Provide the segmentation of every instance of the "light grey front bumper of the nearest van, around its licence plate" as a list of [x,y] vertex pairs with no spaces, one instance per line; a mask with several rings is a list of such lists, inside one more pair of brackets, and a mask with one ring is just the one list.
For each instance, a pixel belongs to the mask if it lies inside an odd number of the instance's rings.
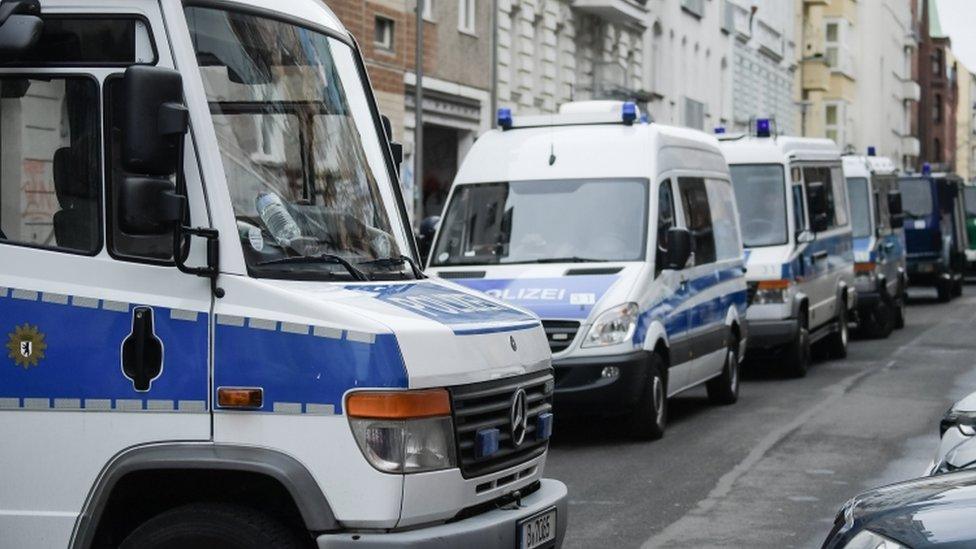
[[323,534],[316,539],[316,543],[319,549],[518,547],[519,521],[555,508],[556,540],[551,547],[561,547],[569,518],[566,494],[566,485],[562,482],[542,479],[539,489],[522,498],[519,506],[513,504],[457,522],[404,532]]

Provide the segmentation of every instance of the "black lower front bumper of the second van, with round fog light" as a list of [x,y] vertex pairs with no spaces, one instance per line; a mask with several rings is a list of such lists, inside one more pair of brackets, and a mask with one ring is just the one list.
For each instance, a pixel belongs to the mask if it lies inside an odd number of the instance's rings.
[[[559,417],[617,415],[629,412],[647,386],[650,353],[564,358],[553,361],[556,390],[553,407]],[[614,367],[617,375],[603,377]]]

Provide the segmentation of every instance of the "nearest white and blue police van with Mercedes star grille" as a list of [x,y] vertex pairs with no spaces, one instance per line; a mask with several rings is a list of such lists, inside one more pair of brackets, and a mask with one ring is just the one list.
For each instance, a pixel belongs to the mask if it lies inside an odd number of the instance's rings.
[[415,265],[323,3],[0,18],[0,547],[561,543],[545,332]]

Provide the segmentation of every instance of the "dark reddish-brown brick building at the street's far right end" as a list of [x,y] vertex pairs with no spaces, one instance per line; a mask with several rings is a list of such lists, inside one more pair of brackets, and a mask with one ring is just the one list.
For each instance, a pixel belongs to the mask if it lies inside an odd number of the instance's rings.
[[942,32],[935,0],[923,0],[919,28],[918,78],[922,88],[918,109],[919,163],[952,171],[956,157],[958,82],[955,67],[949,60],[951,41]]

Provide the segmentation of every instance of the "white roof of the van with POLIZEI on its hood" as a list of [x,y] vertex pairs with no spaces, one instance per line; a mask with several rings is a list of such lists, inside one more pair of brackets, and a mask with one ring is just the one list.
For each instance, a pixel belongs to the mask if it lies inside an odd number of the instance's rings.
[[675,169],[728,173],[718,141],[697,130],[656,123],[556,124],[485,133],[455,183],[654,179]]

